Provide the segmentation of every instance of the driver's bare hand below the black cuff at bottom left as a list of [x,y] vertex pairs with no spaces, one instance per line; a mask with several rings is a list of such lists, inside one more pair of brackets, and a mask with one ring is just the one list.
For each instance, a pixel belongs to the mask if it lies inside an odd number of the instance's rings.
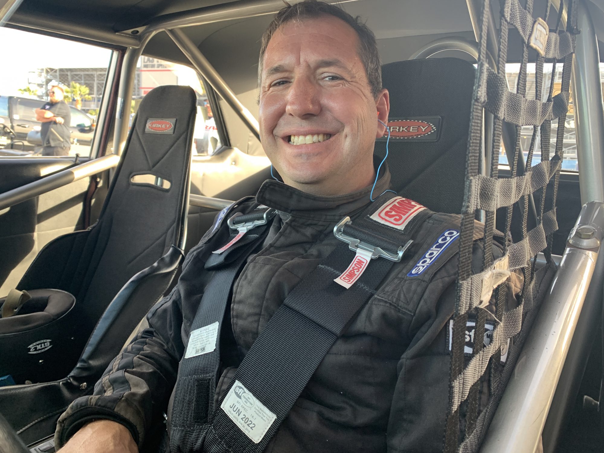
[[60,453],[138,453],[126,426],[111,420],[96,420],[84,425],[59,450]]

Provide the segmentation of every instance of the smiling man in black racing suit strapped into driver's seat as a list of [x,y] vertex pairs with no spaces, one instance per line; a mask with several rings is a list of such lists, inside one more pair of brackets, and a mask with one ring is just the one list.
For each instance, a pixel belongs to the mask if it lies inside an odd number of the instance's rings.
[[[387,132],[390,107],[374,34],[341,8],[306,0],[277,14],[263,36],[259,61],[260,137],[282,182],[266,181],[255,198],[220,213],[189,252],[174,291],[150,310],[94,394],[77,399],[60,417],[55,439],[62,453],[146,451],[154,443],[157,448],[164,413],[162,451],[442,451],[459,217],[387,193],[387,165],[378,170],[373,156],[374,141]],[[372,205],[381,194],[381,205]],[[371,212],[365,213],[367,208]],[[276,214],[267,217],[272,210]],[[257,212],[265,213],[268,225],[262,242],[245,256],[230,294],[226,290],[228,305],[219,313],[224,319],[198,321],[204,304],[214,303],[207,294],[222,291],[219,271],[208,270],[208,263],[245,240],[231,234],[226,220],[233,225],[237,215]],[[374,236],[388,231],[395,239],[413,240],[373,289],[365,283],[373,281],[372,269],[385,263],[383,258],[350,252],[354,260],[344,264],[344,269],[350,264],[344,272],[326,264],[342,244],[334,226],[346,216],[353,225],[374,225]],[[475,252],[482,254],[480,242]],[[500,253],[498,245],[493,253]],[[257,338],[274,323],[283,301],[294,289],[303,293],[300,288],[316,271],[328,275],[329,294],[352,299],[366,289],[367,302],[350,313],[301,393],[280,415],[258,390],[250,390],[253,382],[239,377],[254,372],[242,370],[242,363],[252,352],[263,353],[266,345]],[[509,304],[515,304],[517,292],[508,291]],[[329,294],[313,300],[312,309],[327,306]],[[326,318],[340,314],[324,310]],[[280,335],[297,338],[297,331],[290,324]],[[296,342],[272,344],[268,365],[255,371],[269,377],[288,373],[281,368],[291,359],[289,347],[309,355],[317,347],[306,338]],[[195,364],[216,353],[217,344],[217,374],[204,380]],[[294,364],[291,373],[301,373],[305,360],[295,356],[288,362]],[[281,382],[254,385],[268,393],[288,392]],[[252,406],[257,411],[246,412]],[[225,417],[232,423],[226,431],[216,425]],[[243,448],[241,442],[249,445]]]

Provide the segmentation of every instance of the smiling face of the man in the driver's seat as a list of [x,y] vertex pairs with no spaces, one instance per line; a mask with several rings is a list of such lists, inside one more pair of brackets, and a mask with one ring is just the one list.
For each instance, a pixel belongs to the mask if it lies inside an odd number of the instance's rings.
[[263,59],[260,139],[283,182],[336,195],[371,184],[373,146],[384,133],[388,92],[373,97],[358,36],[333,16],[291,21]]

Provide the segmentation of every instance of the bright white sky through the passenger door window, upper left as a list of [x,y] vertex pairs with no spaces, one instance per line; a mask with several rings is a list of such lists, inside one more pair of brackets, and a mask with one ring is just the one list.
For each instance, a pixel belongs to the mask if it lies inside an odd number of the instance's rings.
[[27,31],[0,28],[2,69],[0,95],[21,95],[28,85],[29,71],[38,68],[103,68],[109,66],[111,51]]

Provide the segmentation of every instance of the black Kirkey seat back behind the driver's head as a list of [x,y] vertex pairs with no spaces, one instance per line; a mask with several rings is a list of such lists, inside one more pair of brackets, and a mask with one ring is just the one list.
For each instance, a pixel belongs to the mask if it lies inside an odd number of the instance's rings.
[[[382,66],[390,92],[392,185],[432,211],[461,213],[475,72],[472,63],[457,58]],[[385,137],[377,139],[375,153],[384,157]]]

